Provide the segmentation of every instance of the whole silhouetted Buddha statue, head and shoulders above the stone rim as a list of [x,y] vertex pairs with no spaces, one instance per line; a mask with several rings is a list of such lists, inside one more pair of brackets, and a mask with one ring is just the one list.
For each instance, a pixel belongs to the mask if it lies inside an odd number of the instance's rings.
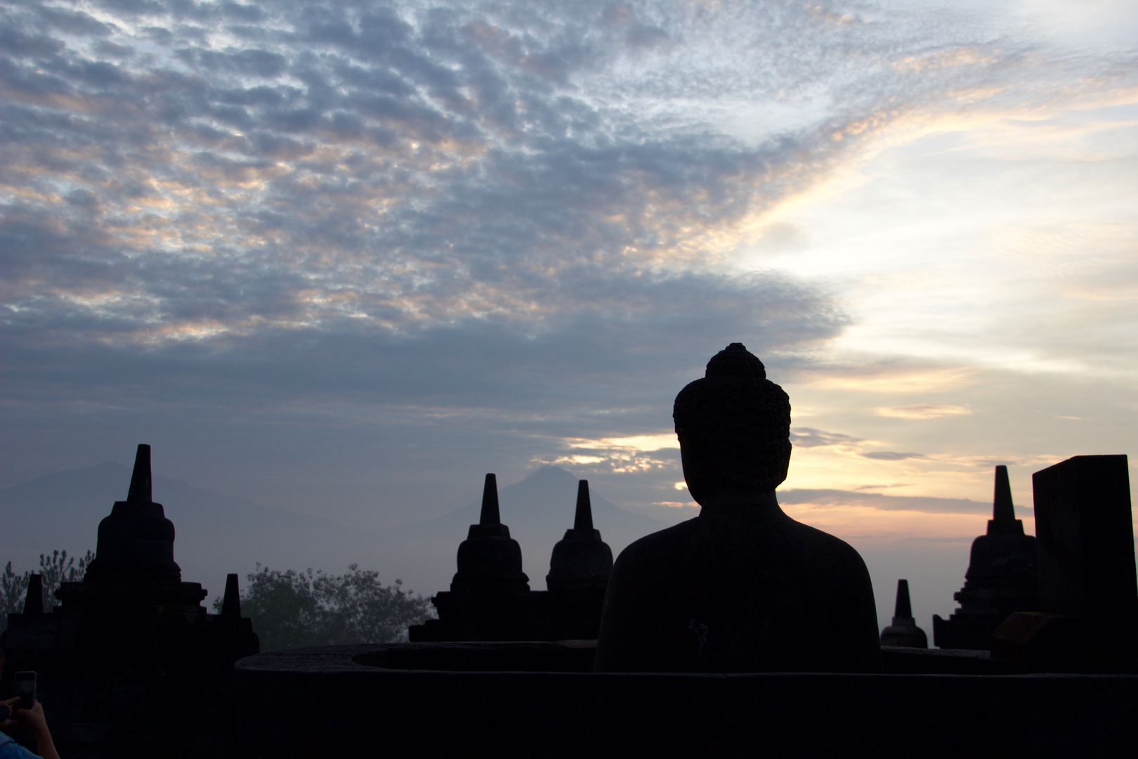
[[597,671],[873,673],[881,646],[865,562],[783,513],[790,398],[740,343],[673,411],[700,515],[617,559]]

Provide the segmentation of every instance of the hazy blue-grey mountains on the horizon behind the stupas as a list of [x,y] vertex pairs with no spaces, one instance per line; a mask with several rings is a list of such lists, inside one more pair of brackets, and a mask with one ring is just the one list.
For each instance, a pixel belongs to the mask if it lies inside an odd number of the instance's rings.
[[[39,554],[66,548],[82,554],[96,547],[99,521],[115,501],[126,497],[131,472],[106,462],[55,472],[0,490],[0,566],[23,571],[39,566]],[[481,482],[471,484],[472,493]],[[500,490],[502,520],[521,544],[530,587],[543,589],[553,544],[572,526],[577,479],[558,467],[542,467]],[[467,528],[478,521],[479,502],[423,522],[373,531],[355,530],[330,519],[257,505],[245,498],[195,488],[156,476],[154,498],[174,522],[174,560],[185,580],[201,583],[211,599],[226,572],[244,576],[256,562],[274,569],[343,572],[356,562],[390,583],[423,594],[447,589]],[[593,521],[613,554],[666,522],[622,511],[592,494]]]

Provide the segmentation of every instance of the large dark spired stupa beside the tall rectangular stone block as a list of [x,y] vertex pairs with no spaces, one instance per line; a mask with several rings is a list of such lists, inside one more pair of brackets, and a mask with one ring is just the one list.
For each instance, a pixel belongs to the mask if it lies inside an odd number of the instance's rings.
[[941,649],[988,650],[991,634],[1016,611],[1039,610],[1036,538],[1015,518],[1007,467],[996,467],[988,533],[972,542],[964,587],[953,594],[960,608],[948,619],[933,614],[933,641]]

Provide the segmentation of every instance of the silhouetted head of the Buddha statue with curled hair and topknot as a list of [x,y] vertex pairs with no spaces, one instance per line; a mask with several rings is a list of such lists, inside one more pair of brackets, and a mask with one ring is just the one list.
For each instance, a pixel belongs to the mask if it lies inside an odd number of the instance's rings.
[[676,396],[671,418],[688,487],[698,478],[703,492],[773,490],[786,479],[790,397],[742,343],[712,356],[703,379]]

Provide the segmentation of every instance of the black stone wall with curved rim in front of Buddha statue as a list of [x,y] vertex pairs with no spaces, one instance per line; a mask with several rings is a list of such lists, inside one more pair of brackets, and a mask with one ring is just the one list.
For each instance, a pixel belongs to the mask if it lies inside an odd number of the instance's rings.
[[[1135,676],[594,675],[580,671],[592,655],[584,646],[415,645],[240,660],[239,756],[1106,757],[1138,749]],[[468,671],[407,669],[432,663]],[[475,671],[519,666],[562,671]]]

